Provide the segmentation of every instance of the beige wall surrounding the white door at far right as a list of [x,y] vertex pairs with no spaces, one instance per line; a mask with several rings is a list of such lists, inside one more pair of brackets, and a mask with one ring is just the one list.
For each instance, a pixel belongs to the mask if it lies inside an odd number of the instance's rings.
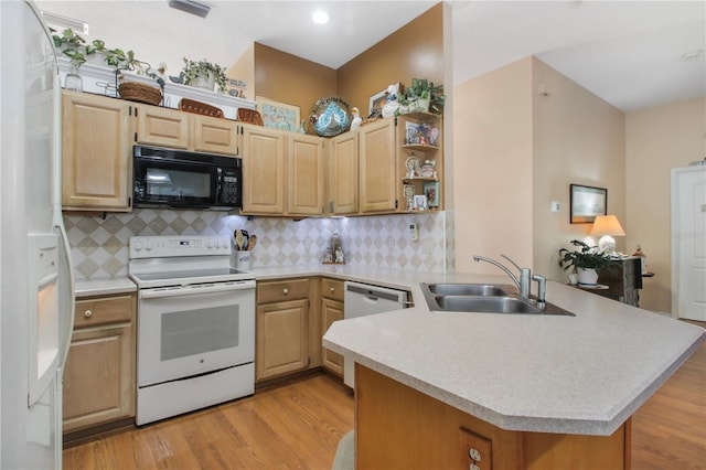
[[627,115],[628,250],[640,244],[653,278],[644,279],[640,307],[670,312],[671,174],[706,157],[704,98],[656,106]]

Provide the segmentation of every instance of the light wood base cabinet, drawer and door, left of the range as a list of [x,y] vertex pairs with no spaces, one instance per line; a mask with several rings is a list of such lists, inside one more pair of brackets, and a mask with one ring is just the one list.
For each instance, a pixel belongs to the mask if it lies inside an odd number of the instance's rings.
[[76,300],[64,368],[64,434],[135,416],[136,296]]

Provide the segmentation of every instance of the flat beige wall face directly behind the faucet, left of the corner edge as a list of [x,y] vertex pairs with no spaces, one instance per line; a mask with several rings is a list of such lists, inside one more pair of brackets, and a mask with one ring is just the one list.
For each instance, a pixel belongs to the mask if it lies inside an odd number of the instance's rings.
[[532,265],[531,82],[525,58],[453,87],[458,271],[500,273],[475,254]]

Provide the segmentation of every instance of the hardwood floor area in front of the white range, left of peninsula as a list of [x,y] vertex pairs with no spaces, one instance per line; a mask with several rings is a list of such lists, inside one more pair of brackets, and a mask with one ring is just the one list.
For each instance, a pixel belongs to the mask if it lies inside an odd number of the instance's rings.
[[327,374],[64,449],[64,469],[330,469],[353,397]]

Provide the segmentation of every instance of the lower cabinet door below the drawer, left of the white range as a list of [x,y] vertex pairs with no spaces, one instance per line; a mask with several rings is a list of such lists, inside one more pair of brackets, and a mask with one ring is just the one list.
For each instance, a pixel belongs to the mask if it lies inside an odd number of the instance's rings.
[[64,367],[64,432],[135,416],[132,323],[76,330]]

